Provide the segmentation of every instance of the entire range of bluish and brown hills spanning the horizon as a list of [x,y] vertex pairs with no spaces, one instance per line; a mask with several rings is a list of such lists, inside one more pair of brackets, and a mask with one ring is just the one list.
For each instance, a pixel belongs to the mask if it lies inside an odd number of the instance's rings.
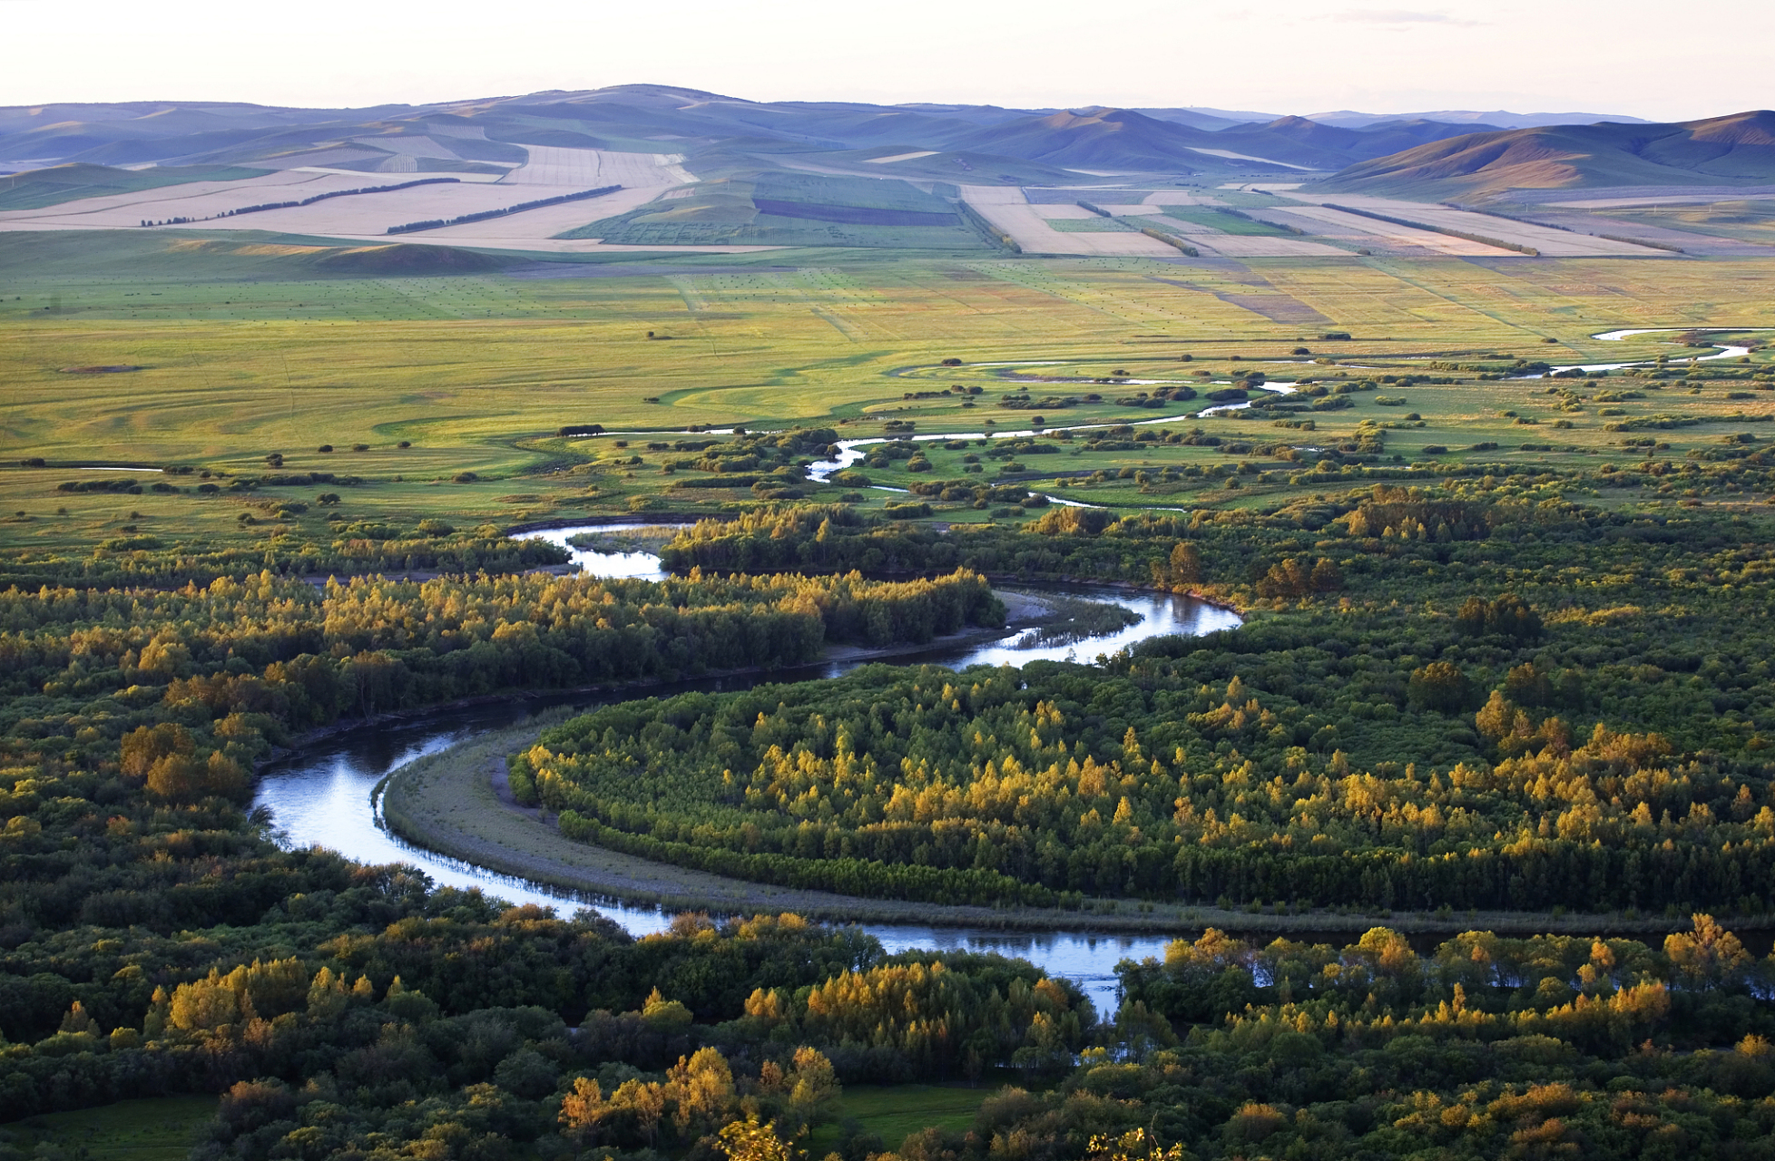
[[678,153],[699,178],[760,169],[1077,185],[1321,179],[1408,195],[1511,186],[1693,185],[1775,178],[1768,119],[1651,124],[1598,114],[1331,112],[747,101],[669,85],[383,105],[204,101],[0,108],[0,172],[87,163],[493,174],[520,146]]

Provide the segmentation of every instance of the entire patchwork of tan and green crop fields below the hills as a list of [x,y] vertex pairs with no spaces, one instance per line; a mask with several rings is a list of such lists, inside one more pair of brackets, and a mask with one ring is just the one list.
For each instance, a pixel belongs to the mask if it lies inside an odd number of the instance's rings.
[[[540,254],[621,252],[635,247],[682,252],[746,252],[735,247],[767,245],[912,250],[990,247],[987,238],[978,236],[976,229],[958,218],[939,222],[951,218],[957,194],[1026,254],[1079,257],[1175,259],[1173,247],[1141,233],[1154,227],[1195,238],[1193,245],[1203,254],[1234,259],[1337,259],[1353,250],[1393,257],[1500,257],[1519,254],[1523,249],[1546,257],[1663,257],[1672,250],[1697,256],[1747,256],[1757,254],[1759,247],[1775,240],[1775,231],[1768,225],[1771,218],[1761,211],[1763,202],[1748,197],[1715,206],[1692,201],[1642,204],[1654,201],[1649,197],[1590,199],[1557,208],[1537,206],[1523,215],[1539,215],[1546,220],[1539,224],[1443,204],[1317,194],[1312,185],[1303,183],[1232,183],[1211,194],[1154,190],[1150,185],[1143,188],[1140,179],[1102,185],[1051,183],[1030,188],[919,181],[916,197],[923,202],[902,206],[900,202],[914,190],[903,181],[891,179],[884,167],[921,165],[930,158],[941,162],[948,156],[934,151],[856,156],[850,169],[781,160],[788,169],[761,174],[747,167],[724,169],[712,174],[710,181],[698,183],[698,178],[683,167],[682,154],[499,146],[509,154],[522,153],[525,160],[518,165],[501,162],[509,167],[504,170],[481,165],[490,172],[421,172],[428,158],[438,158],[438,165],[462,169],[469,154],[476,153],[476,149],[469,153],[453,149],[449,140],[463,144],[472,138],[438,140],[428,135],[360,138],[353,146],[383,151],[376,154],[385,158],[378,172],[327,165],[351,163],[357,154],[346,156],[350,149],[335,149],[334,153],[341,154],[337,158],[321,156],[327,151],[293,154],[282,163],[309,163],[241,181],[201,181],[108,194],[39,209],[0,211],[0,231],[114,229],[138,225],[144,218],[154,222],[190,218],[211,229],[369,241],[383,238],[394,225],[449,220],[619,185],[621,190],[600,199],[430,229],[412,240]],[[479,153],[485,154],[486,149],[490,146],[479,146]],[[955,154],[950,160],[964,158]],[[825,174],[829,188],[799,190],[797,181],[806,183],[806,174],[813,172]],[[330,197],[311,206],[266,209],[238,218],[217,217],[250,204],[394,185],[401,178],[408,181],[451,178],[451,181]],[[1001,174],[999,179],[1014,178]],[[753,204],[754,194],[765,202]],[[772,204],[785,199],[799,208],[783,209]],[[1081,201],[1106,209],[1109,217],[1083,208]],[[660,206],[648,209],[653,202]],[[804,204],[809,202],[820,208],[806,209]],[[1596,202],[1590,209],[1576,208],[1590,202]],[[1605,208],[1603,202],[1613,208]],[[889,206],[937,217],[930,222],[877,220],[880,215],[873,211]],[[1202,215],[1172,217],[1166,208],[1200,209]],[[1223,208],[1237,208],[1248,215],[1244,225],[1239,225],[1237,218],[1214,213]],[[1393,222],[1365,217],[1367,213]],[[1624,236],[1645,236],[1653,245],[1638,245]]]

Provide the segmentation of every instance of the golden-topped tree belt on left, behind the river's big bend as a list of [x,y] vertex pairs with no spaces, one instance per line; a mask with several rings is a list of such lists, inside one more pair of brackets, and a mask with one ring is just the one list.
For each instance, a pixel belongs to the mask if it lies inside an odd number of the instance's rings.
[[7,589],[0,618],[14,731],[101,756],[144,721],[160,738],[140,742],[153,756],[133,756],[126,744],[124,762],[156,765],[190,758],[190,731],[206,735],[213,723],[229,723],[217,746],[227,738],[234,763],[257,756],[264,733],[344,714],[806,664],[827,641],[925,643],[966,625],[1003,625],[1005,611],[966,572],[912,582],[483,573],[325,588],[264,572],[176,591]]

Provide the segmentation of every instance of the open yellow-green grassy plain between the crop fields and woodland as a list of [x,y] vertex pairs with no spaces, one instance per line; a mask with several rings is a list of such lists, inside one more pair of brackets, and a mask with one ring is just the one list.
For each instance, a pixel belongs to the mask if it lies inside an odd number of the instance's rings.
[[[832,426],[845,438],[868,438],[886,435],[889,423],[911,423],[918,435],[983,435],[1164,421],[1161,431],[1203,428],[1221,444],[1086,449],[1090,437],[1079,433],[1060,454],[1005,474],[1069,476],[1065,486],[1079,499],[1113,506],[1242,506],[1298,490],[1289,476],[1301,456],[1290,463],[1253,451],[1278,442],[1335,446],[1379,430],[1383,463],[1596,467],[1644,454],[1612,430],[1624,421],[1674,417],[1654,431],[1654,451],[1681,458],[1738,433],[1768,438],[1770,428],[1755,424],[1775,412],[1775,394],[1755,391],[1766,378],[1750,382],[1768,366],[1763,350],[1745,355],[1748,364],[1699,364],[1709,376],[1743,382],[1479,378],[1519,362],[1651,360],[1660,351],[1681,366],[1715,348],[1670,346],[1674,334],[1590,336],[1766,327],[1775,321],[1766,307],[1775,261],[1234,263],[779,250],[350,277],[327,266],[343,252],[335,247],[199,234],[131,234],[99,247],[96,238],[0,241],[18,272],[0,302],[0,456],[9,462],[0,470],[0,543],[71,549],[174,531],[250,543],[296,531],[291,522],[318,525],[321,492],[343,495],[328,518],[399,524],[428,515],[509,524],[632,508],[714,511],[749,497],[671,490],[682,476],[664,467],[676,456],[648,449],[657,440],[646,433],[735,423]],[[1329,332],[1351,337],[1321,337]],[[1754,346],[1757,337],[1747,332],[1741,341]],[[944,366],[950,359],[960,366]],[[78,371],[119,366],[138,369]],[[1379,385],[1344,396],[1342,410],[1195,419],[1211,407],[1207,391],[1253,369],[1278,382]],[[1452,382],[1384,382],[1400,375]],[[1141,398],[1180,385],[1193,385],[1196,398],[1163,407]],[[1631,398],[1598,398],[1610,389]],[[1303,417],[1312,428],[1299,426]],[[557,428],[584,423],[637,435],[554,438]],[[323,444],[332,451],[320,451]],[[1191,472],[1228,463],[1228,447],[1242,449],[1235,460],[1255,462],[1248,486],[1228,490]],[[980,451],[928,444],[932,474],[923,478],[962,478]],[[288,490],[309,511],[280,520],[259,520],[263,495],[195,492],[204,470],[218,479],[263,472],[272,454],[282,456],[286,474],[330,472],[353,483]],[[1310,463],[1312,453],[1305,458]],[[44,463],[25,465],[32,460]],[[195,474],[167,478],[174,492],[153,490],[165,483],[160,476],[142,476],[138,495],[57,490],[105,476],[85,465]],[[996,479],[1001,467],[1006,462],[987,460],[973,476]],[[919,474],[905,469],[900,460],[868,476],[909,486]],[[1177,478],[1141,485],[1122,478],[1124,469],[1172,469]],[[1099,470],[1108,478],[1090,479]],[[861,495],[870,504],[893,499]]]

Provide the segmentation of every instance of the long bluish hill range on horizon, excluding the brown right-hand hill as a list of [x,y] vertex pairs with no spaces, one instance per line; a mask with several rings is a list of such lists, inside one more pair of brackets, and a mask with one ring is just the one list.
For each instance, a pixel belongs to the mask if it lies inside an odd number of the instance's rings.
[[[738,158],[740,165],[765,154],[785,158],[893,147],[900,153],[941,153],[944,160],[925,169],[934,165],[946,176],[960,174],[969,181],[1012,176],[1038,181],[1056,170],[1230,178],[1298,169],[1331,172],[1475,128],[1489,126],[1422,117],[1377,117],[1372,124],[1335,126],[1305,117],[1276,119],[1209,108],[1021,110],[998,105],[747,101],[676,85],[612,85],[360,110],[204,101],[11,107],[0,108],[0,172],[66,163],[376,170],[389,156],[389,138],[431,137],[447,140],[449,149],[422,156],[454,162],[431,169],[517,163],[522,156],[499,147],[522,144],[641,153],[673,149],[690,158]],[[398,147],[394,153],[410,151]],[[721,162],[721,167],[728,163]]]

